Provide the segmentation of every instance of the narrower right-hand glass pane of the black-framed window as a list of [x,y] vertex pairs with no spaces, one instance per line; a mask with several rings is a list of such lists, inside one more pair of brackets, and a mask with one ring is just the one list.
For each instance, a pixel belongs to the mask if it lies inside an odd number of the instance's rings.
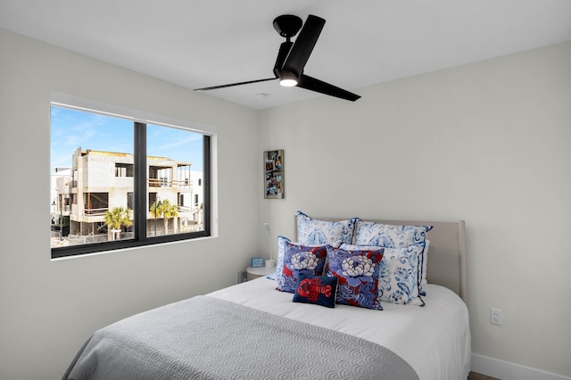
[[148,124],[147,236],[204,231],[203,134]]

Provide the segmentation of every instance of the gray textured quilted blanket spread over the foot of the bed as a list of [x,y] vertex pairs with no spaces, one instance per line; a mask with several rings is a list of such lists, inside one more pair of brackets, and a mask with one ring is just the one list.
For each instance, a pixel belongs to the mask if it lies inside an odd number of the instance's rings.
[[95,332],[63,378],[412,380],[418,376],[393,351],[375,343],[197,296]]

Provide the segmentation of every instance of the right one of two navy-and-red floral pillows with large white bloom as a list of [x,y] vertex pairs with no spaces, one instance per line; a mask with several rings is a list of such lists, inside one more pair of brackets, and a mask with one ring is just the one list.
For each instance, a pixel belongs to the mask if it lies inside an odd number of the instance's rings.
[[378,296],[383,251],[383,248],[351,251],[327,246],[327,275],[339,278],[337,303],[383,310]]

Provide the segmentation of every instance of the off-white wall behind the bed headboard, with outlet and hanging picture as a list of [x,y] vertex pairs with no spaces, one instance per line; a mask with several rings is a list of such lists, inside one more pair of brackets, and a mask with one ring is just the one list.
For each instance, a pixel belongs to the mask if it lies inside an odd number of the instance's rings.
[[570,68],[566,43],[261,112],[285,149],[261,219],[465,219],[473,351],[571,376]]

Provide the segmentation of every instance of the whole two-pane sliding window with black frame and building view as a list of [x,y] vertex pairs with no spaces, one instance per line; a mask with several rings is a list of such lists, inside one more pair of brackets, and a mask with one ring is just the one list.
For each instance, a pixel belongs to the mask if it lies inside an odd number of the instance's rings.
[[51,115],[53,258],[210,235],[209,135],[60,103]]

